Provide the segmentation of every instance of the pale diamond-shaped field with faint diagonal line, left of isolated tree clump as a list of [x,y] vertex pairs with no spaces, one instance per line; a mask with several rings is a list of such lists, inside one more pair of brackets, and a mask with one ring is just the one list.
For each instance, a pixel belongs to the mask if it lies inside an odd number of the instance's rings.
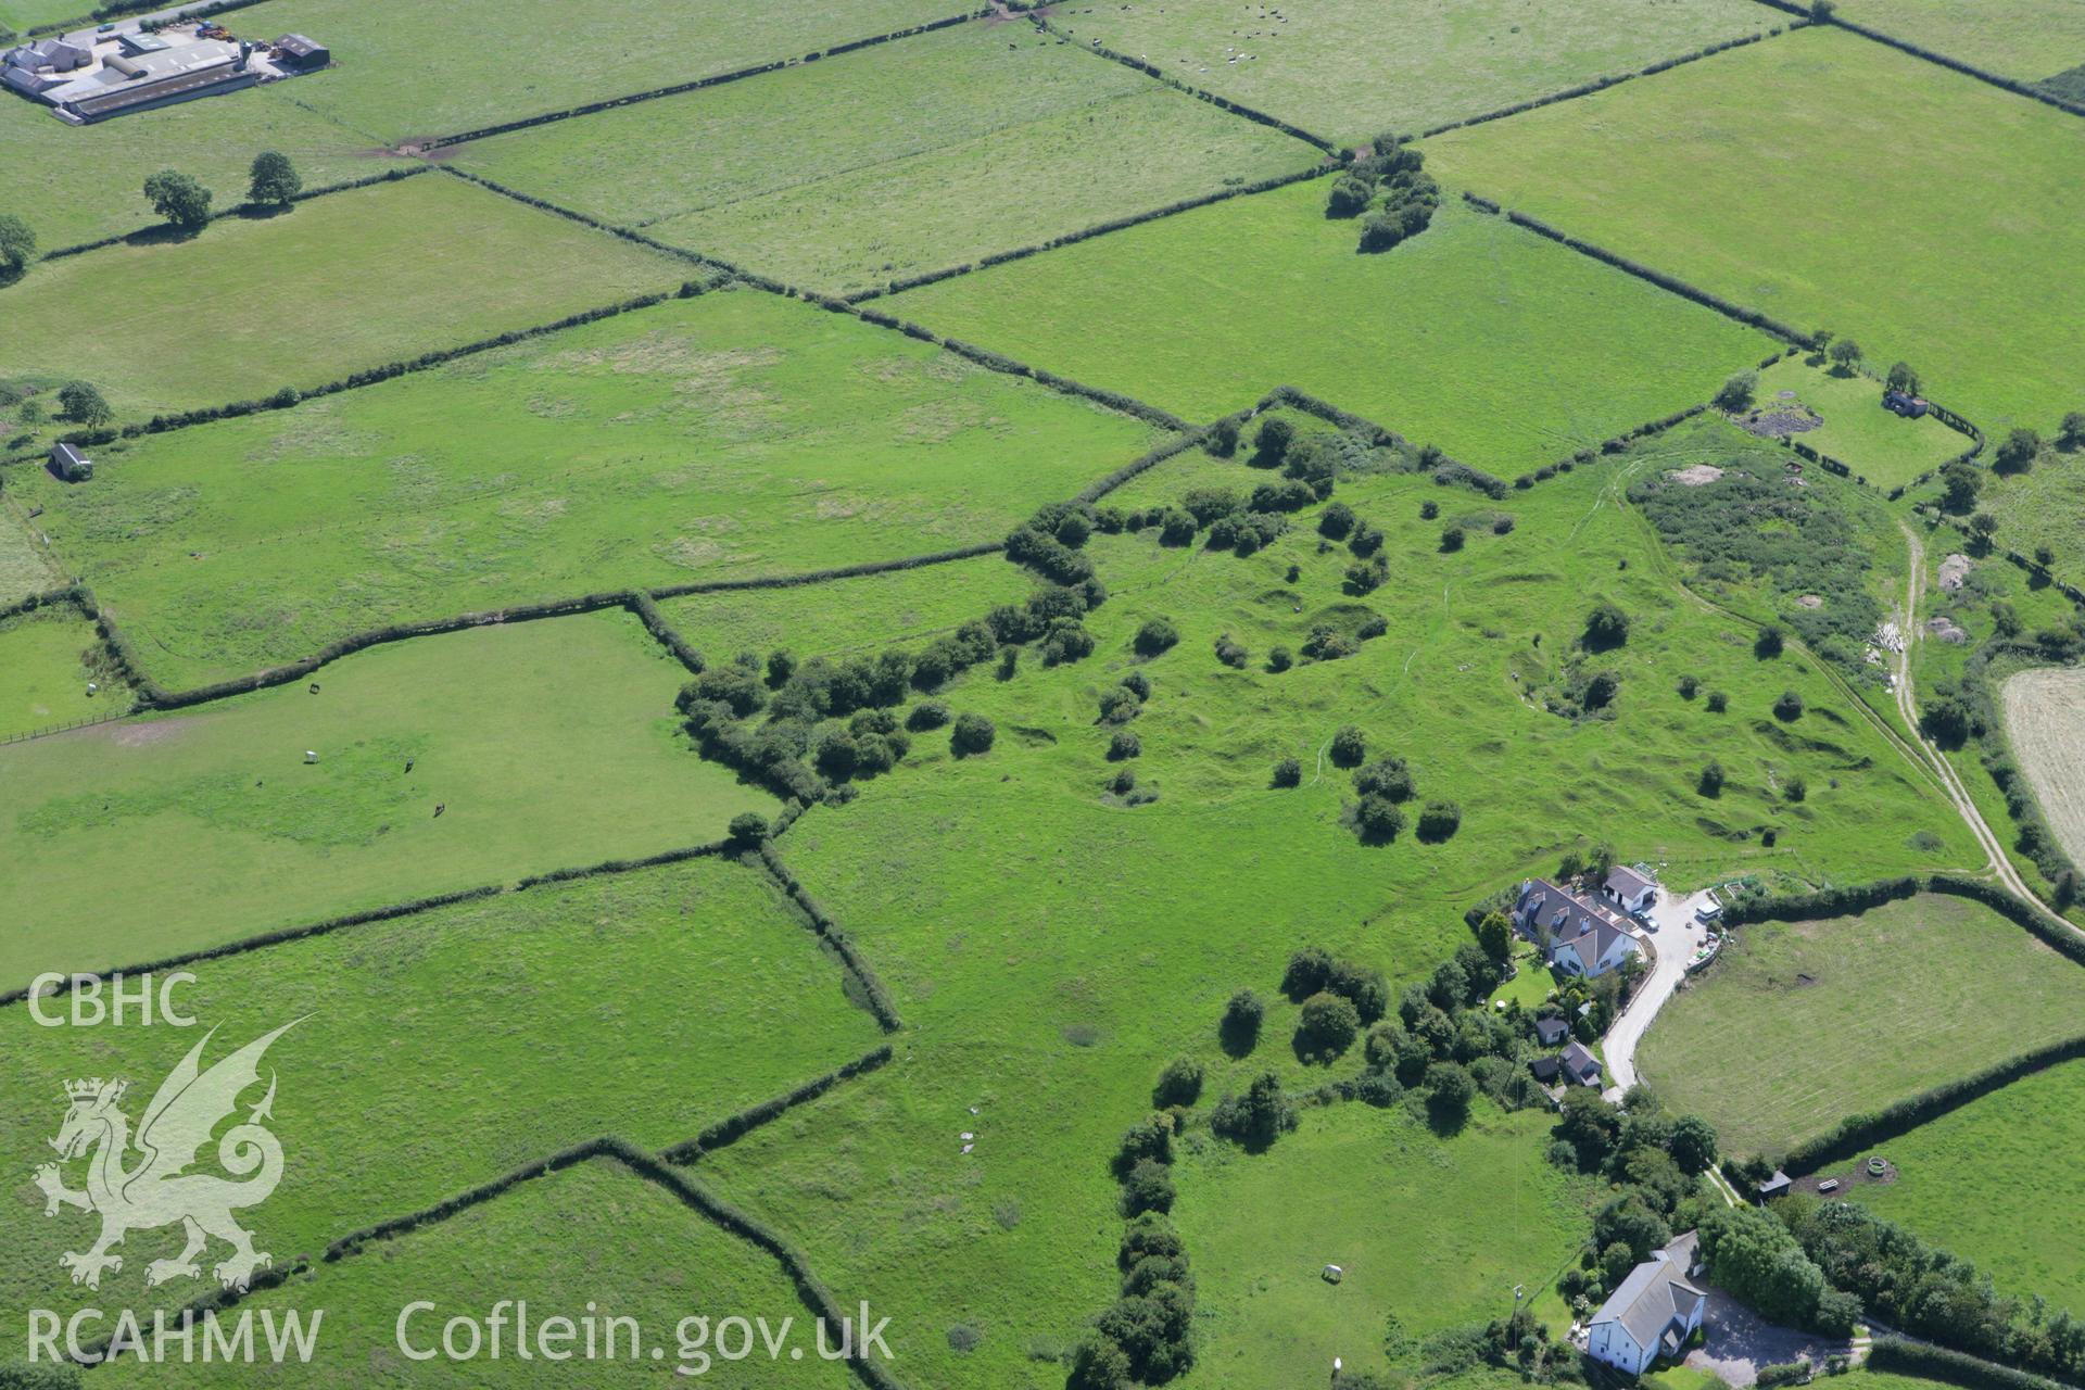
[[[807,150],[817,156],[803,158]],[[661,242],[844,294],[1305,169],[1318,150],[999,23],[498,135],[444,158]]]

